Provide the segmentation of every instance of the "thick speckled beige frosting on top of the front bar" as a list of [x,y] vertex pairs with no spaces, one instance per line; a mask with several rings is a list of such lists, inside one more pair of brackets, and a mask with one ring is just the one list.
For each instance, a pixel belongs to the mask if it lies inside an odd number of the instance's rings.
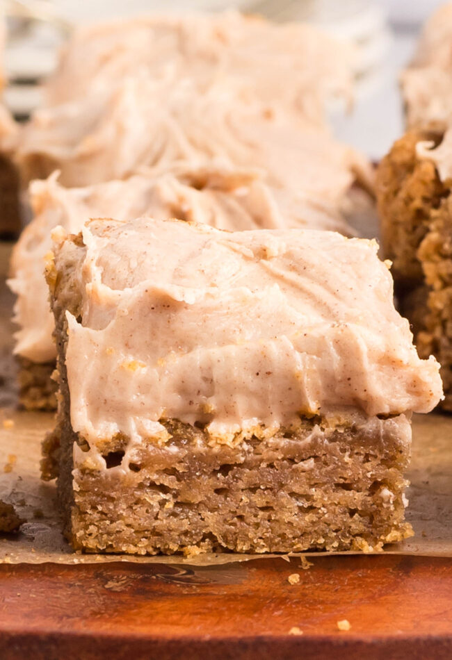
[[92,447],[118,433],[165,441],[162,418],[232,442],[300,413],[426,412],[442,395],[375,241],[145,218],[93,221],[83,240],[66,363],[72,427]]

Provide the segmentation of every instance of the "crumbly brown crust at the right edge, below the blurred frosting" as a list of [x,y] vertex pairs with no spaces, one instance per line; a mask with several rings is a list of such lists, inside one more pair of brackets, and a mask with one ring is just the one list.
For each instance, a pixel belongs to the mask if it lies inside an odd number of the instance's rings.
[[432,162],[417,158],[421,140],[439,144],[442,133],[409,131],[378,166],[378,213],[401,313],[412,323],[421,358],[433,354],[441,364],[439,406],[452,411],[451,188]]

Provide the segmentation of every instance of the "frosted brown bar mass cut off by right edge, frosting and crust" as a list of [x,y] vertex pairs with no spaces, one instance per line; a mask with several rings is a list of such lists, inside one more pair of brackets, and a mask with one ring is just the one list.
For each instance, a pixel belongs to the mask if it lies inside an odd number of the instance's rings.
[[452,3],[423,28],[403,73],[408,131],[376,182],[385,256],[419,354],[441,363],[443,409],[452,411]]

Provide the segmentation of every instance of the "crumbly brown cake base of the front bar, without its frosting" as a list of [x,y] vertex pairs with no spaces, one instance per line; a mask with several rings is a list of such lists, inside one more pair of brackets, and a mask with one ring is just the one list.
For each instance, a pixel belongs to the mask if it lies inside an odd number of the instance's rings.
[[96,467],[88,442],[71,427],[65,370],[65,311],[78,315],[81,304],[73,277],[83,257],[77,241],[64,265],[47,270],[60,394],[58,426],[45,441],[43,461],[47,478],[58,473],[74,548],[133,554],[370,550],[412,534],[404,520],[411,438],[404,415],[369,418],[348,409],[227,445],[212,443],[202,426],[161,420],[171,436],[166,443],[143,442],[129,463],[129,438],[106,438],[97,447],[106,467]]

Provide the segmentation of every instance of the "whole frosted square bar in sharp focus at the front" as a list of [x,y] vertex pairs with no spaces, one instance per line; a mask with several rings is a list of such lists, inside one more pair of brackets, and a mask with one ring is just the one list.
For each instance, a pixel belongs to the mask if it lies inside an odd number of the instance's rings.
[[53,440],[75,548],[369,550],[410,535],[410,413],[442,388],[376,242],[149,218],[54,238]]

